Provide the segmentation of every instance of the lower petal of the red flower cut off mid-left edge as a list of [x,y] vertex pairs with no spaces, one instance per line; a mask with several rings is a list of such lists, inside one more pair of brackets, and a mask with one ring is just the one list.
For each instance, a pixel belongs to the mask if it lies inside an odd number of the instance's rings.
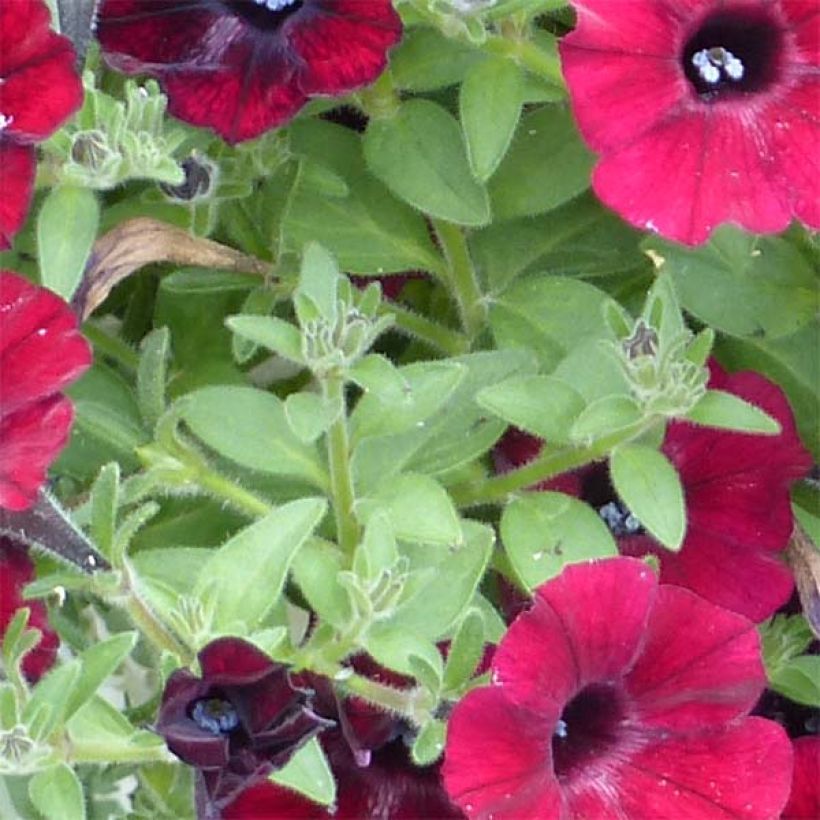
[[34,503],[73,417],[71,402],[55,395],[0,418],[0,507],[25,510]]

